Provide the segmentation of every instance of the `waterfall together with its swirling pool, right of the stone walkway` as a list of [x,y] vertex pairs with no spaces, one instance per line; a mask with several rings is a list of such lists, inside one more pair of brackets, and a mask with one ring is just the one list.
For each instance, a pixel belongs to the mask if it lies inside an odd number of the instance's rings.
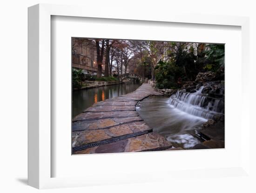
[[221,113],[222,101],[202,94],[179,90],[171,97],[150,96],[136,109],[153,130],[176,146],[192,148],[201,143],[197,130],[214,115]]

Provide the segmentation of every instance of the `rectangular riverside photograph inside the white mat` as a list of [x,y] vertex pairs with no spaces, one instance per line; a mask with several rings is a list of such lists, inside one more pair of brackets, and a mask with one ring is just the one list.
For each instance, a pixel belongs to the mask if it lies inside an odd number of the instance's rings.
[[225,148],[225,44],[71,45],[72,154]]

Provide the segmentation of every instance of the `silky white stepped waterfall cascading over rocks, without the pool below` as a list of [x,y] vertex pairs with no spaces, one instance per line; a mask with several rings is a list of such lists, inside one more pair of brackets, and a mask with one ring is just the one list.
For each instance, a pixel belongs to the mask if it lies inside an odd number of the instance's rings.
[[178,90],[169,98],[169,105],[190,115],[211,119],[219,113],[223,113],[223,102],[220,99],[202,94],[204,86],[194,93]]

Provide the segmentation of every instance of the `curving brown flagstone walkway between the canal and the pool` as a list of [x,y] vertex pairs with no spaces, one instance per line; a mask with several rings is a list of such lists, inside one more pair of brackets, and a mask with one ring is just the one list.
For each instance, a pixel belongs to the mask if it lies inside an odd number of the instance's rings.
[[119,153],[175,149],[139,116],[136,104],[162,95],[149,84],[134,92],[95,103],[73,119],[73,154]]

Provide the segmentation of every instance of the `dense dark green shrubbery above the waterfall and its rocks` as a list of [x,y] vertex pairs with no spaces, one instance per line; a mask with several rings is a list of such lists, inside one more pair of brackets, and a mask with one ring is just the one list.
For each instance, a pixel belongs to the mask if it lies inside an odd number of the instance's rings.
[[[206,47],[205,47],[206,46]],[[194,81],[199,72],[213,71],[219,79],[224,77],[224,45],[171,43],[168,62],[160,61],[155,67],[156,87],[179,88],[183,81]]]

